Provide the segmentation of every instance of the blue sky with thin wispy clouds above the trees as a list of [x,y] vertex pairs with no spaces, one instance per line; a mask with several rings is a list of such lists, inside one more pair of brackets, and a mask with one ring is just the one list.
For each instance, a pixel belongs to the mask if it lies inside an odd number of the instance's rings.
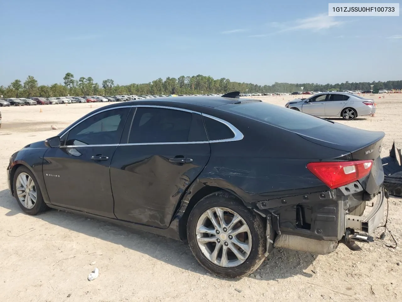
[[62,83],[66,72],[120,85],[402,79],[402,16],[328,17],[322,0],[13,0],[0,12],[4,86]]

